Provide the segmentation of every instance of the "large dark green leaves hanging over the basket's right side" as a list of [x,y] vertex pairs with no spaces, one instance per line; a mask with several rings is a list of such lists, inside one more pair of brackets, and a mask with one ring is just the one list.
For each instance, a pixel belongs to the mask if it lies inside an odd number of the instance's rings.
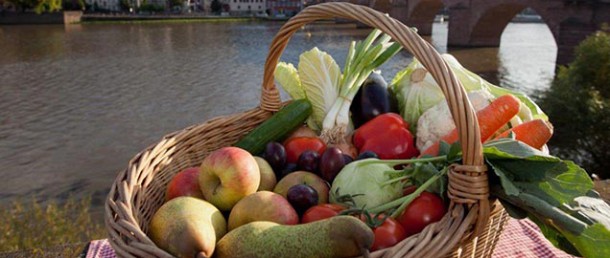
[[490,142],[484,153],[500,180],[491,191],[511,215],[526,213],[566,252],[610,257],[610,206],[582,168],[512,139]]

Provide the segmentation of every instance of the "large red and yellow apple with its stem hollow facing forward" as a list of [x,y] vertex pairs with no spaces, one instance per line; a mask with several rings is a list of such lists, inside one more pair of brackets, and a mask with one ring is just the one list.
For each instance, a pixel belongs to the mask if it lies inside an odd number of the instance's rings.
[[260,181],[256,160],[238,147],[218,149],[205,157],[200,166],[201,192],[222,211],[231,210],[239,200],[255,193]]

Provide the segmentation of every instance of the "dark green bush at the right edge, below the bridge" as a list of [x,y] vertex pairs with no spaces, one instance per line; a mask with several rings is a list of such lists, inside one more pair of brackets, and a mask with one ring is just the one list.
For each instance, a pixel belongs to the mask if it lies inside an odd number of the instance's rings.
[[610,178],[609,53],[610,33],[585,39],[540,103],[555,126],[552,152],[602,178]]

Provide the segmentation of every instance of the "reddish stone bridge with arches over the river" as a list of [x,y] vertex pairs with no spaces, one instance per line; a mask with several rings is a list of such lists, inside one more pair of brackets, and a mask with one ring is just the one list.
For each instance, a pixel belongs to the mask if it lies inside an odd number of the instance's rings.
[[435,16],[449,15],[448,47],[497,47],[508,23],[529,7],[549,27],[557,43],[557,63],[572,60],[573,49],[610,23],[610,0],[349,0],[368,5],[429,35]]

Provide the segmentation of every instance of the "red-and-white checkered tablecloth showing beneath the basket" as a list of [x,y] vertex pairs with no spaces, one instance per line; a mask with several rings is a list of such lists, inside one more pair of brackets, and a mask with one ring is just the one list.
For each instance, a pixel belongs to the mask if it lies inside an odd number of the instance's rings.
[[[107,239],[91,241],[87,258],[116,257]],[[494,258],[567,258],[573,257],[555,248],[530,220],[510,219],[493,253]]]

